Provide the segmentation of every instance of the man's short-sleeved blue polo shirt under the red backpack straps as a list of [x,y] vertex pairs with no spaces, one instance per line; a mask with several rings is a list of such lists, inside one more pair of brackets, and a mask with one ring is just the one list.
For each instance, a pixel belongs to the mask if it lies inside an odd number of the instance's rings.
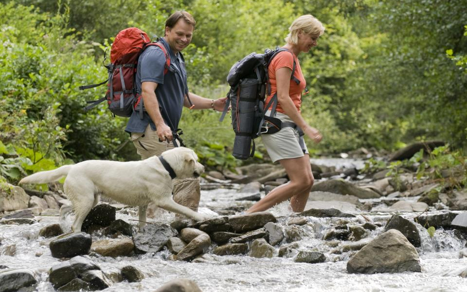
[[[182,115],[184,96],[188,94],[187,72],[183,57],[179,53],[173,54],[164,38],[160,41],[170,55],[170,70],[164,75],[166,65],[164,52],[157,46],[149,46],[139,56],[135,77],[136,92],[141,93],[141,82],[158,83],[156,96],[162,118],[170,129],[176,130]],[[125,131],[143,133],[148,124],[156,130],[154,122],[146,111],[143,112],[143,119],[140,118],[139,111],[133,111]]]

